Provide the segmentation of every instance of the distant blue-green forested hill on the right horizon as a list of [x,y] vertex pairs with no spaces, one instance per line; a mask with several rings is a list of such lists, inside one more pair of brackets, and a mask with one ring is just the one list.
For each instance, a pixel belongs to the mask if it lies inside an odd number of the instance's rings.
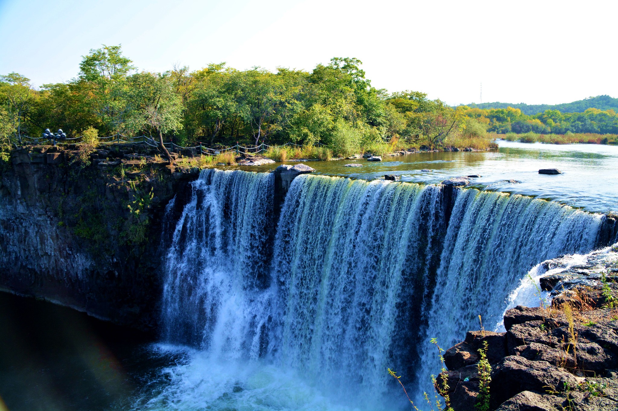
[[483,104],[468,104],[470,108],[519,108],[522,113],[533,115],[543,113],[545,110],[558,110],[561,113],[583,113],[587,108],[598,108],[599,110],[616,110],[618,112],[618,99],[614,99],[607,95],[588,97],[587,99],[577,100],[572,103],[564,104],[511,104],[511,103],[483,103]]

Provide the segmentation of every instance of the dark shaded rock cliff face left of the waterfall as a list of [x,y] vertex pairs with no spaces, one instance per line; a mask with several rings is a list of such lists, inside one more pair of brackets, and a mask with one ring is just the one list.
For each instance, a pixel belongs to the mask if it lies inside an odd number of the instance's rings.
[[0,182],[0,288],[156,325],[164,206],[197,173],[133,145],[12,153]]

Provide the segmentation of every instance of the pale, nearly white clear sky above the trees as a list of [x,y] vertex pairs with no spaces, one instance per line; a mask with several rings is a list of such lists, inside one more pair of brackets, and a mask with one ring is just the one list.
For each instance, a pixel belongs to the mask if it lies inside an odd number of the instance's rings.
[[122,44],[140,70],[311,70],[357,57],[373,86],[449,104],[618,97],[618,1],[0,0],[0,74],[68,81]]

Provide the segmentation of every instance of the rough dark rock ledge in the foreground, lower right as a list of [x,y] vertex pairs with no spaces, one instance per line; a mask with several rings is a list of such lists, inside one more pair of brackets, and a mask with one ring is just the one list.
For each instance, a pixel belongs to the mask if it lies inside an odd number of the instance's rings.
[[489,410],[618,410],[618,245],[572,263],[544,263],[551,305],[510,309],[506,332],[468,332],[444,353],[455,411],[477,410],[485,341]]

